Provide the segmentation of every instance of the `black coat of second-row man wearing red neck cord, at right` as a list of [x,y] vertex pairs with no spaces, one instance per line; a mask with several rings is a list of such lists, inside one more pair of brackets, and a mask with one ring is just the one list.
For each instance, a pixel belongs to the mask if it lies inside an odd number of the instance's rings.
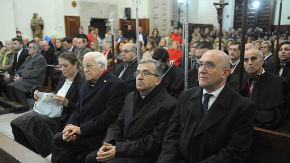
[[[231,87],[238,91],[239,76],[235,76],[230,82]],[[250,82],[251,85],[251,82]],[[288,93],[286,79],[275,74],[265,72],[257,80],[252,90],[251,100],[257,106],[255,114],[255,126],[276,130],[281,124],[286,107],[286,95]],[[248,74],[243,74],[242,95],[249,97]]]

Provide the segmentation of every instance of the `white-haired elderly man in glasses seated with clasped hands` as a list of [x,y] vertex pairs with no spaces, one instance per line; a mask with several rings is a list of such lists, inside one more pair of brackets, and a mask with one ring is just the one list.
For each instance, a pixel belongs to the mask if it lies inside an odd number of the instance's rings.
[[120,114],[126,84],[106,68],[107,60],[102,53],[95,51],[84,56],[81,69],[87,81],[63,132],[52,140],[52,162],[84,161],[88,153],[101,147],[107,128]]

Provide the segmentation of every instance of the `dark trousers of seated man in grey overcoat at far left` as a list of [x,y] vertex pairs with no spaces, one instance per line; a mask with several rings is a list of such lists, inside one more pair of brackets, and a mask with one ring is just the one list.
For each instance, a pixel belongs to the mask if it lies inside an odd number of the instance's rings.
[[12,101],[18,102],[20,104],[23,104],[24,107],[29,107],[29,104],[26,100],[26,94],[25,92],[15,88],[14,86],[11,85],[7,85],[6,86],[7,89],[7,96],[9,99],[11,99]]

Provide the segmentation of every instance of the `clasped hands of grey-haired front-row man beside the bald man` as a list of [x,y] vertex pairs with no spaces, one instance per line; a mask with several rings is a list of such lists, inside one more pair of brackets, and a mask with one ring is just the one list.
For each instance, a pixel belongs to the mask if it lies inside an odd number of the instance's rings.
[[96,160],[105,162],[109,159],[115,158],[116,156],[116,146],[104,142],[104,145],[100,147],[99,151],[97,152]]

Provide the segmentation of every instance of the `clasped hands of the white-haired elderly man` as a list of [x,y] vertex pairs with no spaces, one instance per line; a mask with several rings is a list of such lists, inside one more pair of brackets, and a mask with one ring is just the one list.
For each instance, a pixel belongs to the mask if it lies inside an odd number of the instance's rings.
[[75,141],[78,136],[81,135],[81,128],[78,126],[74,126],[72,124],[68,124],[63,130],[63,140],[66,142]]

